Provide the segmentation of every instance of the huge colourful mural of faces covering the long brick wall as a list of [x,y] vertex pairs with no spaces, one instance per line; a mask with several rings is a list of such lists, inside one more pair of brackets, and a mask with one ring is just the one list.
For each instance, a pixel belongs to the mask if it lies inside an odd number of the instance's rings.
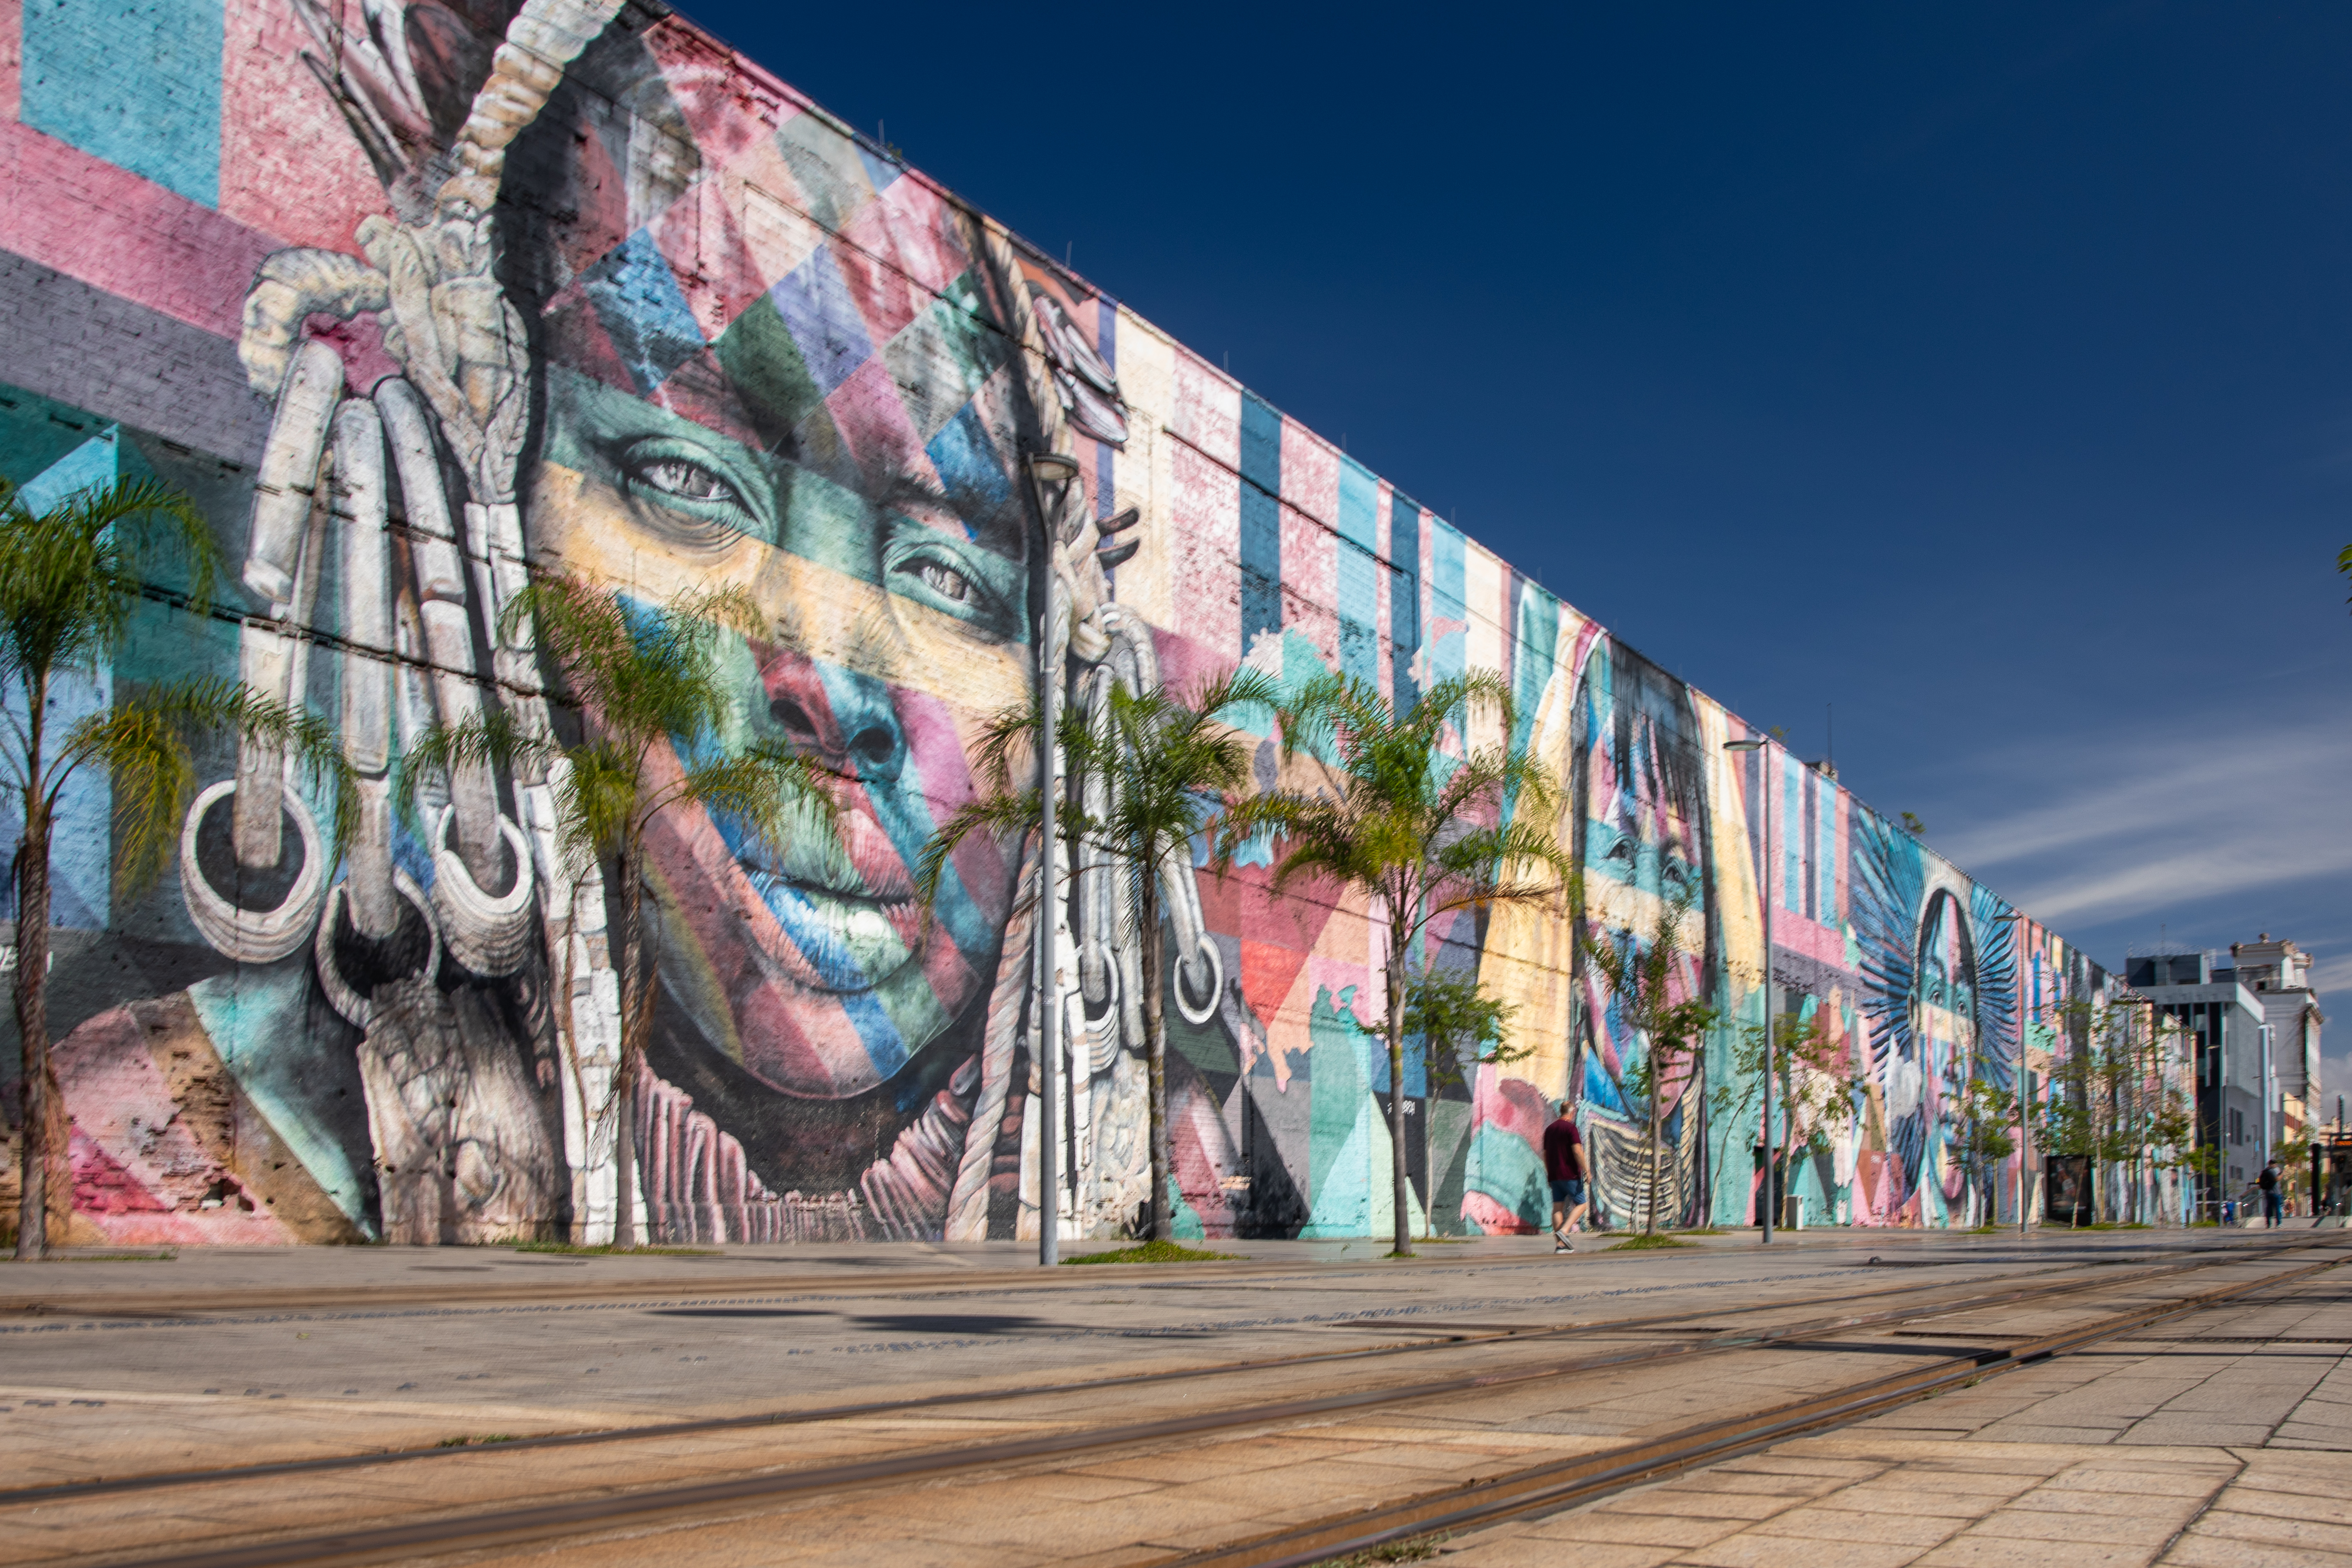
[[[1150,983],[1181,1232],[1388,1234],[1395,1093],[1416,1227],[1538,1227],[1562,1098],[1628,1222],[1649,1041],[1585,954],[1668,907],[1677,992],[1722,1009],[1658,1074],[1672,1220],[1755,1215],[1738,1041],[1766,985],[1837,1041],[1790,1190],[1858,1225],[1983,1215],[1962,1091],[2009,1086],[2096,966],[1825,771],[1724,750],[1750,729],[1705,693],[682,16],[42,0],[0,28],[0,473],[33,505],[162,477],[235,564],[207,616],[160,578],[59,701],[233,675],[329,715],[362,790],[336,842],[285,757],[214,743],[136,896],[103,778],[66,799],[75,1239],[609,1239],[621,1140],[661,1239],[1035,1234],[1047,1006],[1058,1208],[1112,1237],[1148,1192]],[[1077,468],[1051,517],[1037,454]],[[713,743],[837,780],[833,825],[783,844],[659,823],[628,1103],[612,891],[557,851],[560,780],[390,802],[435,719],[595,724],[503,614],[543,571],[748,595],[764,630],[729,632]],[[1397,698],[1508,677],[1512,733],[1465,741],[1557,771],[1588,896],[1463,914],[1425,957],[1517,1004],[1522,1056],[1432,1074],[1416,1046],[1390,1084],[1364,910],[1272,896],[1263,858],[1164,872],[1167,976],[1098,879],[1040,907],[1033,839],[969,842],[924,914],[910,867],[974,797],[983,719],[1030,691],[1049,581],[1082,708],[1240,663]],[[1049,987],[1037,919],[1075,954]]]

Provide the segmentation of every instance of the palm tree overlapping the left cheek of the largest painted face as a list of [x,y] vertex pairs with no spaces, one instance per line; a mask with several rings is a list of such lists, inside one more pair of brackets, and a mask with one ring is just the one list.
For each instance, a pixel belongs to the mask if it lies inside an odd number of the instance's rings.
[[619,590],[550,576],[499,616],[501,639],[522,628],[532,628],[583,710],[583,738],[567,745],[508,712],[435,724],[402,757],[395,795],[414,811],[423,778],[482,766],[536,773],[555,785],[562,851],[583,867],[614,865],[607,886],[621,893],[621,1063],[602,1114],[621,1117],[614,1241],[628,1248],[637,1237],[633,1105],[659,994],[644,952],[644,835],[670,806],[734,816],[776,844],[795,832],[833,832],[833,780],[814,757],[786,745],[760,741],[731,755],[710,745],[734,696],[720,672],[720,635],[769,630],[739,588],[680,592],[649,609]]

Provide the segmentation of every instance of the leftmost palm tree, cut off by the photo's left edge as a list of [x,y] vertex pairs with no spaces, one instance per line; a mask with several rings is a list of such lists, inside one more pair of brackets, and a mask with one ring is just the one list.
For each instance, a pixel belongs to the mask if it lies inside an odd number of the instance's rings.
[[195,785],[191,733],[230,733],[294,755],[336,802],[336,844],[358,818],[358,792],[334,729],[318,715],[254,696],[240,682],[165,684],[113,703],[52,736],[59,684],[96,675],[146,597],[143,567],[181,557],[188,607],[212,604],[221,550],[195,505],[153,480],[94,484],[35,512],[0,480],[0,684],[21,698],[0,736],[0,773],[24,811],[16,853],[16,1032],[24,1041],[16,1255],[45,1258],[49,1227],[71,1213],[66,1100],[49,1060],[49,835],[56,802],[82,769],[113,783],[115,882],[146,889],[169,863]]

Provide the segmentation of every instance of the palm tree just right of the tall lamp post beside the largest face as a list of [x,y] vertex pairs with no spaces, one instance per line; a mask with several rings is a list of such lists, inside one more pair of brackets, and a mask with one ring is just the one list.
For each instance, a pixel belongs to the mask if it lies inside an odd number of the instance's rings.
[[[1150,1081],[1150,1239],[1167,1241],[1171,1206],[1167,1119],[1167,933],[1162,886],[1192,875],[1192,839],[1223,802],[1249,783],[1256,743],[1235,729],[1247,710],[1272,708],[1282,691],[1256,670],[1214,679],[1190,698],[1167,686],[1131,691],[1105,682],[1101,701],[1056,715],[1056,745],[1068,776],[1068,802],[1056,802],[1056,832],[1073,851],[1094,851],[1115,867],[1127,919],[1143,947],[1143,1039]],[[974,750],[988,795],[967,802],[922,851],[920,884],[934,900],[955,846],[974,832],[1016,839],[1037,823],[1035,766],[1037,708],[997,712]],[[1080,858],[1073,853],[1073,858]],[[1178,954],[1190,961],[1192,954]]]

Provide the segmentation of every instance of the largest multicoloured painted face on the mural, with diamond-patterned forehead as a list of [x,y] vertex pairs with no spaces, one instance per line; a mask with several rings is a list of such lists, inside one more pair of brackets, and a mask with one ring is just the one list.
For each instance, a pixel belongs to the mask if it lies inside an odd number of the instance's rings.
[[[647,602],[729,585],[760,607],[767,630],[722,644],[706,745],[816,757],[837,818],[769,844],[666,813],[661,978],[703,1039],[811,1098],[873,1088],[948,1030],[995,978],[1018,872],[974,839],[929,922],[915,900],[922,846],[974,795],[978,722],[1028,684],[1018,367],[953,216],[880,207],[708,343],[644,235],[586,273],[548,313],[529,494],[539,559]],[[915,289],[877,252],[943,277]]]

